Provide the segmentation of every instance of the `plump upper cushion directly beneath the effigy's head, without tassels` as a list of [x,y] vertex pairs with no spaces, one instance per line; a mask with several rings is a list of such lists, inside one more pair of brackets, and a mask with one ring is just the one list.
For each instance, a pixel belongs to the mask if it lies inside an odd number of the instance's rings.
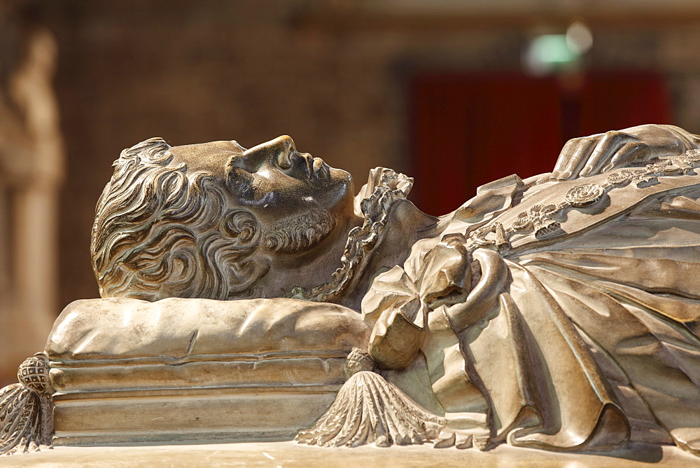
[[330,385],[369,333],[328,303],[92,299],[66,307],[46,353],[59,392]]

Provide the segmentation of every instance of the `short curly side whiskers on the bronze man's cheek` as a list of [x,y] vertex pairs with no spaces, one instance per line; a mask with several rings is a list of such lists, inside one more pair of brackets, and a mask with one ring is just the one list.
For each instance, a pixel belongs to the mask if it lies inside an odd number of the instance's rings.
[[274,252],[303,252],[314,247],[335,228],[335,220],[323,209],[274,223],[265,233],[265,247]]

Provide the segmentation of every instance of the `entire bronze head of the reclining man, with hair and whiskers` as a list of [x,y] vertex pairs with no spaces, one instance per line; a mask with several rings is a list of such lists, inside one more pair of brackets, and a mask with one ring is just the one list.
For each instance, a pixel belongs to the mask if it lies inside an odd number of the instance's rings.
[[122,151],[96,213],[100,294],[149,301],[309,289],[341,266],[363,223],[350,174],[298,153],[289,137],[248,150],[148,139]]

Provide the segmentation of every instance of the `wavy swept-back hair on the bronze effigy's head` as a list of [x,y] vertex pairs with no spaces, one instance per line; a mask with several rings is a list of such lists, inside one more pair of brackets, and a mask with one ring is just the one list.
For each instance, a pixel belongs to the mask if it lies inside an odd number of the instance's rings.
[[225,192],[207,172],[172,167],[170,146],[151,138],[125,149],[95,209],[90,254],[102,297],[254,296],[269,270],[253,261],[260,223],[226,209]]

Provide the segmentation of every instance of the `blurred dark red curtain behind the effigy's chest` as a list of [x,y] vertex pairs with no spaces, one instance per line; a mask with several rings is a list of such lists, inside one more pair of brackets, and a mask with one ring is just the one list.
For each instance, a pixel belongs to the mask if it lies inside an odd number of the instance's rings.
[[412,200],[445,214],[489,181],[549,172],[569,138],[642,123],[671,123],[657,74],[418,75],[409,87]]

